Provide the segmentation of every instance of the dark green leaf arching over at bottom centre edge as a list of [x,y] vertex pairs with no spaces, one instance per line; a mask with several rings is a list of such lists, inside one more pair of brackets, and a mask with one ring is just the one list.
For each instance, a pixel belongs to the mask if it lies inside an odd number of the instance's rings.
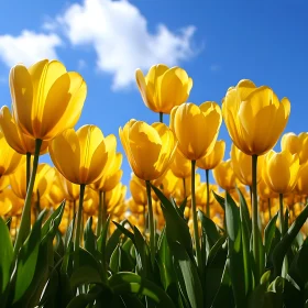
[[133,273],[118,273],[109,278],[109,286],[114,294],[139,294],[147,296],[161,308],[175,307],[169,296],[154,283]]

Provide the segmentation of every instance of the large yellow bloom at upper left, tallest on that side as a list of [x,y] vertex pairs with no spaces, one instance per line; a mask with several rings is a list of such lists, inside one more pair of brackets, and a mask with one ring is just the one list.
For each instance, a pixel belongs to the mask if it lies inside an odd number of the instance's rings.
[[66,72],[58,61],[41,61],[26,68],[15,65],[10,89],[16,124],[33,139],[52,140],[73,128],[87,95],[82,77]]

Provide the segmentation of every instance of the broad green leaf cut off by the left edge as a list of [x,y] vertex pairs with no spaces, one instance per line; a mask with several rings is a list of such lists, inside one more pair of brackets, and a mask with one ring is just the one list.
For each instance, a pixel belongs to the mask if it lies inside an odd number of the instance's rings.
[[13,261],[13,245],[6,222],[0,217],[0,294],[4,293],[10,280],[10,270]]

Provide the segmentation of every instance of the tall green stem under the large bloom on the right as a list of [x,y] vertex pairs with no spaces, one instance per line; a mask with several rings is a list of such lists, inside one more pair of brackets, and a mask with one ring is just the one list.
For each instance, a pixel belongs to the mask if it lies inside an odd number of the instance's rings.
[[253,257],[255,262],[256,268],[256,277],[255,280],[258,284],[258,279],[261,277],[261,260],[260,260],[260,251],[258,251],[258,238],[260,238],[260,229],[258,229],[258,208],[257,208],[257,194],[256,194],[256,166],[257,166],[257,155],[252,155],[252,240],[253,240]]

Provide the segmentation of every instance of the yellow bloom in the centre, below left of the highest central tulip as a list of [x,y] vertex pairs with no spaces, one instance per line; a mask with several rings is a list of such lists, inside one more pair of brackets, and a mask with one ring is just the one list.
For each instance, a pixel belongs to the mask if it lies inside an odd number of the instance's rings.
[[139,178],[157,179],[169,167],[177,142],[168,127],[130,120],[119,133],[131,168]]

